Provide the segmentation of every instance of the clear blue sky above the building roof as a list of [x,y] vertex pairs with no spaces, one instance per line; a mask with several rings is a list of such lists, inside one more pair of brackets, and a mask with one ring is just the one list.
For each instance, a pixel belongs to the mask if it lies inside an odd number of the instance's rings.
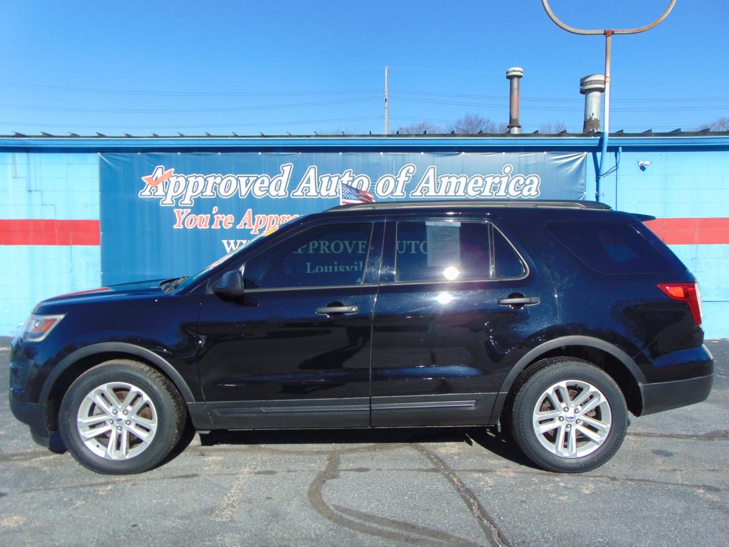
[[[552,0],[582,28],[643,26],[668,0]],[[391,132],[467,112],[507,122],[522,66],[523,131],[581,131],[580,77],[604,38],[556,27],[539,0],[4,2],[0,134]],[[611,129],[729,116],[729,2],[678,0],[615,36]]]

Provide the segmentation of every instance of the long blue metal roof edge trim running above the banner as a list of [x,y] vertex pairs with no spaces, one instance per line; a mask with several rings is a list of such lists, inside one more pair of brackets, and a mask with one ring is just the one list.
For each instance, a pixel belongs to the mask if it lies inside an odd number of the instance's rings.
[[[498,133],[482,135],[308,135],[308,136],[0,136],[0,150],[39,152],[520,152],[588,151],[601,145],[601,133]],[[609,150],[729,150],[729,132],[670,131],[610,133]]]

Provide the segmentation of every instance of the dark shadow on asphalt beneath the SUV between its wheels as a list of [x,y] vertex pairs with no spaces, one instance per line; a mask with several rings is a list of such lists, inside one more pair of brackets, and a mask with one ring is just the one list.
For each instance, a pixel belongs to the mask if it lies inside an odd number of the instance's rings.
[[[192,439],[190,439],[192,441]],[[190,441],[185,443],[186,447]],[[337,445],[391,443],[465,443],[477,444],[498,457],[537,469],[516,446],[507,432],[487,427],[397,427],[382,429],[327,430],[215,430],[200,433],[202,446],[215,445]],[[180,443],[182,445],[182,443]],[[332,445],[335,445],[332,448]],[[179,451],[184,450],[184,447]],[[342,449],[345,449],[342,446]],[[178,452],[179,453],[179,452]]]

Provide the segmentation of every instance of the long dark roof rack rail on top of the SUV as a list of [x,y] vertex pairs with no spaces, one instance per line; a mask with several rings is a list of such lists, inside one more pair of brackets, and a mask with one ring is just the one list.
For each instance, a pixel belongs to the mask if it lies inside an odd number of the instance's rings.
[[362,211],[382,209],[424,209],[443,207],[514,207],[518,209],[544,208],[544,209],[599,209],[612,210],[612,207],[599,201],[577,200],[507,200],[507,199],[472,199],[472,200],[429,200],[429,201],[381,201],[379,203],[348,203],[327,209],[327,211]]

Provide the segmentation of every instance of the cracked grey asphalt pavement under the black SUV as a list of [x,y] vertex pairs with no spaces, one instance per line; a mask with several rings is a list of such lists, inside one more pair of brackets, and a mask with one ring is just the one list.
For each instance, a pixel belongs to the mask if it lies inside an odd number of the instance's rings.
[[191,434],[155,470],[101,476],[33,443],[0,397],[0,545],[725,546],[729,341],[706,345],[709,399],[632,418],[580,475],[448,427]]

